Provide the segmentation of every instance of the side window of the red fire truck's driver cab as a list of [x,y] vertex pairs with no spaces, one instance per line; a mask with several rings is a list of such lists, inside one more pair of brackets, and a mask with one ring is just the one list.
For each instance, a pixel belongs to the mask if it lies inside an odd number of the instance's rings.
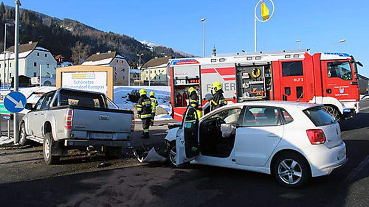
[[341,78],[342,80],[352,80],[351,65],[349,62],[329,62],[327,63],[328,77]]

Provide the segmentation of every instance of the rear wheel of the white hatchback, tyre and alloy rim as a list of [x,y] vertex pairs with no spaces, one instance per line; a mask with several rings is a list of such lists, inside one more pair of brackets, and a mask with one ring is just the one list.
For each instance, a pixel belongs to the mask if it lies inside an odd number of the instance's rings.
[[280,185],[300,187],[311,178],[310,167],[300,154],[285,152],[273,163],[273,175]]

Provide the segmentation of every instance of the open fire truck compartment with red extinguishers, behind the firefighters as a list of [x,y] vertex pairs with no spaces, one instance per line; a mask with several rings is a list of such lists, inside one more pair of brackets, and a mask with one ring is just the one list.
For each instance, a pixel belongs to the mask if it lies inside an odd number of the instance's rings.
[[175,95],[175,107],[186,107],[189,94],[187,91],[194,87],[199,96],[200,92],[200,67],[199,66],[177,66],[173,67],[173,93]]

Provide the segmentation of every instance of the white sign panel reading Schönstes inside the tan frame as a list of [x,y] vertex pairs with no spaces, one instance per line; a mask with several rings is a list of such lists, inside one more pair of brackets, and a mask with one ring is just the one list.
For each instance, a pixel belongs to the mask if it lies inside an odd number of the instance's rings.
[[107,72],[62,72],[62,87],[107,94]]

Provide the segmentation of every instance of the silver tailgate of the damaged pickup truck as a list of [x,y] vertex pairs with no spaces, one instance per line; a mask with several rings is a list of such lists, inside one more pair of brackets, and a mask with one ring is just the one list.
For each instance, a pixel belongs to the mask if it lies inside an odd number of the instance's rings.
[[128,110],[73,108],[72,130],[130,133],[132,116]]

